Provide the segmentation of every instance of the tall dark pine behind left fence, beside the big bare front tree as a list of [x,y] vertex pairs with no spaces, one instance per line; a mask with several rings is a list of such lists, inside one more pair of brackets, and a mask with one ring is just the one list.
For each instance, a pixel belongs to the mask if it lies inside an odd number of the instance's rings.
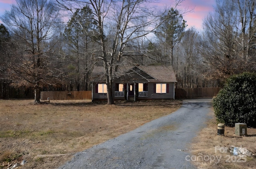
[[88,72],[91,69],[90,50],[92,49],[92,36],[96,29],[93,22],[91,9],[86,5],[74,12],[64,31],[68,45],[66,56],[70,61],[67,66],[70,70],[68,78],[70,81],[75,81],[78,91],[88,89]]

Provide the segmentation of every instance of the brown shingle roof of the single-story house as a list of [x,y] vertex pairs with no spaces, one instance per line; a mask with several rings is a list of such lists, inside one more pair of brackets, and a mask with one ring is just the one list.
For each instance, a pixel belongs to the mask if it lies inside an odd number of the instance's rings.
[[[148,82],[177,82],[172,66],[119,66],[117,75],[120,77],[132,71],[143,76],[146,75],[145,78]],[[105,79],[104,73],[104,67],[95,66],[92,78],[97,81],[103,81]]]

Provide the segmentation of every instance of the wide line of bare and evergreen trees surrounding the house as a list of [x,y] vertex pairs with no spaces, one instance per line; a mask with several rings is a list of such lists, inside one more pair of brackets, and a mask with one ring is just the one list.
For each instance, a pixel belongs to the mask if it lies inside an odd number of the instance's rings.
[[216,0],[203,30],[188,28],[184,0],[153,2],[16,0],[0,17],[1,83],[35,89],[40,101],[41,90],[90,90],[95,65],[108,93],[122,65],[172,66],[178,88],[221,87],[256,70],[254,0]]

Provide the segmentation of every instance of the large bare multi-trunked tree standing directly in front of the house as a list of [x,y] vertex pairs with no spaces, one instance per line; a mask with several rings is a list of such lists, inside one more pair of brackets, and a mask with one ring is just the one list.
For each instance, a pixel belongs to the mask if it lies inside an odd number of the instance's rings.
[[[72,10],[66,1],[57,0],[57,2],[66,9]],[[96,42],[102,51],[97,58],[102,60],[105,70],[108,104],[113,104],[112,81],[118,74],[118,66],[122,64],[126,45],[155,30],[154,25],[162,15],[155,15],[154,10],[149,8],[150,0],[69,0],[69,2],[80,4],[84,2],[92,8],[98,28]],[[181,0],[178,1],[180,2]]]

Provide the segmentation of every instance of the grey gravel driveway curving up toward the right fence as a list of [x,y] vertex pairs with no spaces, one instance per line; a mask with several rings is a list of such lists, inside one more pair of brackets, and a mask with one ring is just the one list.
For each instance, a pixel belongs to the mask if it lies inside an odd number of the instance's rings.
[[210,119],[212,99],[184,100],[180,109],[76,153],[60,169],[193,169],[189,143]]

